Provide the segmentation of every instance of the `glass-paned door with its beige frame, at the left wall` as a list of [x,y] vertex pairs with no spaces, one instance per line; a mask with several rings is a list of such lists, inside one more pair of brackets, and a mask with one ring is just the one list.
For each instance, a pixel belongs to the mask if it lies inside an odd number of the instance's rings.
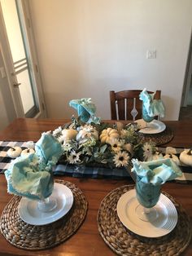
[[46,117],[28,2],[0,2],[1,45],[15,112],[17,117]]

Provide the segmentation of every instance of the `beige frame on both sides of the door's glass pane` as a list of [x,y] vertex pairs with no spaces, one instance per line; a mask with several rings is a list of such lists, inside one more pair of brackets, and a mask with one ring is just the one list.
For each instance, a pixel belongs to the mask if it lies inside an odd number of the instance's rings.
[[[34,78],[34,87],[36,90],[37,104],[39,108],[39,113],[34,118],[46,118],[46,104],[43,95],[43,90],[41,86],[41,77],[39,73],[38,63],[37,63],[37,54],[36,47],[33,39],[33,29],[30,19],[30,12],[28,7],[28,1],[17,0],[17,4],[20,5],[22,10],[22,15],[24,15],[24,29],[26,31],[26,38],[28,42],[28,51],[32,60],[31,70],[33,72]],[[13,69],[13,60],[11,56],[11,49],[9,46],[6,26],[3,20],[2,8],[0,5],[0,47],[2,51],[2,58],[6,68],[6,75],[8,80],[8,86],[11,90],[11,99],[15,107],[16,117],[24,117],[24,108],[20,97],[20,89],[15,84],[15,73]],[[5,95],[7,96],[7,95]]]

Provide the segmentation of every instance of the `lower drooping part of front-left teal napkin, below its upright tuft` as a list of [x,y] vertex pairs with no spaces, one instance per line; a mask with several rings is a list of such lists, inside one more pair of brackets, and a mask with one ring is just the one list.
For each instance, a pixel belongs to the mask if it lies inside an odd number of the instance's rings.
[[5,171],[7,191],[17,196],[42,199],[50,196],[53,179],[49,171],[39,170],[35,153],[18,157],[10,169]]

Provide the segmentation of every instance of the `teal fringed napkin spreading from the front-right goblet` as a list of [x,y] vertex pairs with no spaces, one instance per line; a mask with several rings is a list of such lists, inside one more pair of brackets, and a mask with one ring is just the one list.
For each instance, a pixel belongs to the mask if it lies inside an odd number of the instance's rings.
[[142,183],[159,185],[182,175],[180,168],[170,158],[145,162],[133,159],[132,163],[132,171],[140,177]]

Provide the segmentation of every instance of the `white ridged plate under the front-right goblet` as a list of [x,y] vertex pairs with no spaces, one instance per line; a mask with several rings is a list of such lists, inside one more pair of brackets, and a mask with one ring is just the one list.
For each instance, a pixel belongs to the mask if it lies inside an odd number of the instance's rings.
[[143,221],[137,217],[135,210],[138,205],[135,189],[129,190],[120,196],[117,203],[117,214],[121,223],[130,231],[140,236],[159,237],[165,236],[177,224],[177,210],[167,196],[161,194],[155,209],[159,217],[151,222]]

